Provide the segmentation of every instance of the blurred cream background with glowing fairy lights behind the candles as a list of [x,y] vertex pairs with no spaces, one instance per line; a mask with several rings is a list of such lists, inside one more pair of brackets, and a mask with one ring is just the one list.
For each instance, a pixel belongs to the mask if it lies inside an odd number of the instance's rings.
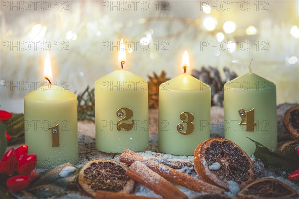
[[[55,0],[47,1],[47,11],[43,1],[38,1],[36,11],[32,3],[27,10],[23,1],[13,2],[20,3],[19,10],[1,0],[1,109],[23,112],[23,98],[34,89],[32,81],[44,80],[42,42],[51,44],[54,82],[80,92],[118,69],[117,47],[110,47],[121,38],[131,45],[125,69],[146,79],[162,70],[168,77],[177,76],[184,50],[193,69],[212,66],[221,73],[229,67],[242,75],[254,59],[253,72],[276,84],[278,104],[299,103],[298,0],[239,0],[235,7],[231,1],[148,0],[136,1],[136,10],[133,1]],[[217,41],[220,49],[210,49],[210,42]]]

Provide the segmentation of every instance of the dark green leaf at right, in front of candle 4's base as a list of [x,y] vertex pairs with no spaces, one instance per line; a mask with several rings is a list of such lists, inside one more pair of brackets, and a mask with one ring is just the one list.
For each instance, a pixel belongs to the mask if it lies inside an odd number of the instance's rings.
[[[253,155],[264,163],[266,169],[274,169],[281,175],[283,172],[286,172],[288,175],[298,169],[299,156],[296,148],[299,147],[299,144],[286,146],[283,150],[272,150],[257,141],[250,140],[256,144],[256,150]],[[287,177],[286,174],[283,176]]]

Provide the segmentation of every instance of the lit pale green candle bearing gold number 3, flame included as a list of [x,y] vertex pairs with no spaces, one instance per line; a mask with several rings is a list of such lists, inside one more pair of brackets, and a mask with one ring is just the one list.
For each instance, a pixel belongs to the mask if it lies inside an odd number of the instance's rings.
[[211,88],[188,75],[189,56],[184,52],[183,74],[160,85],[160,152],[193,155],[198,144],[210,137]]

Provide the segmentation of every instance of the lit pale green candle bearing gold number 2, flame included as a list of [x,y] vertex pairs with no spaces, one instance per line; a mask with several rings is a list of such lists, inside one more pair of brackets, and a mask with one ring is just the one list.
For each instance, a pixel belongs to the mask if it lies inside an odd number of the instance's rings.
[[95,82],[96,148],[109,153],[140,151],[149,143],[148,83],[124,70],[124,42],[120,42],[120,70]]

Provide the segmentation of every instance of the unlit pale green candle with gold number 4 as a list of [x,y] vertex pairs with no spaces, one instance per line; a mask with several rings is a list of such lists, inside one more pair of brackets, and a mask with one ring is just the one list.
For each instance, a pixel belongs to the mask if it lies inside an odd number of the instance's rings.
[[224,131],[226,139],[251,156],[255,143],[250,139],[276,149],[276,86],[248,68],[248,73],[224,85]]

